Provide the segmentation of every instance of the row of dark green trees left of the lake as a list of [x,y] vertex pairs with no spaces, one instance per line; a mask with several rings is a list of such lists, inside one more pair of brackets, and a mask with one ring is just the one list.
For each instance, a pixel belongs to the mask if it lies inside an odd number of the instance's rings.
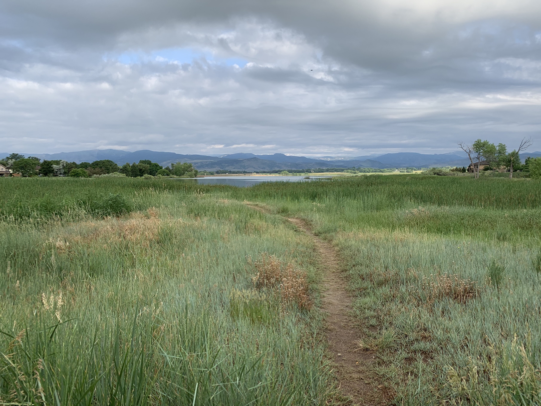
[[182,176],[195,177],[197,169],[191,163],[172,163],[167,167],[150,161],[150,159],[141,159],[138,163],[125,163],[119,167],[110,159],[101,159],[94,162],[67,162],[61,159],[41,159],[35,156],[24,157],[21,154],[10,154],[4,159],[0,159],[0,164],[12,170],[23,177],[31,176],[69,176],[69,177],[90,177],[108,174],[118,174],[127,177],[142,176]]

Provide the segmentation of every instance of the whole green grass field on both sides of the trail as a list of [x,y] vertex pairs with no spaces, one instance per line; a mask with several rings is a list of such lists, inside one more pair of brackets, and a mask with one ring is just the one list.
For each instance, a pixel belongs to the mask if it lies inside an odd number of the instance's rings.
[[[539,181],[0,180],[4,403],[339,402],[313,244],[283,215],[337,247],[394,403],[540,402]],[[315,305],[256,289],[262,252]]]

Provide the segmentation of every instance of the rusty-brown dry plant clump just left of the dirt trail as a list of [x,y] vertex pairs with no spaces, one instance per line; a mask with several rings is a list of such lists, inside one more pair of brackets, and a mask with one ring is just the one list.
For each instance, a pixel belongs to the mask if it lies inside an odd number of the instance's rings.
[[308,282],[305,272],[296,270],[292,263],[280,261],[266,252],[254,262],[256,270],[252,278],[256,289],[278,289],[282,303],[309,309],[312,302],[308,295]]

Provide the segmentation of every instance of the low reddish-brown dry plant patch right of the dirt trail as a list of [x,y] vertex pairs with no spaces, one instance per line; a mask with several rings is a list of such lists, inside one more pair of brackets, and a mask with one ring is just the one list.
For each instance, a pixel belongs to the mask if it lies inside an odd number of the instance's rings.
[[461,278],[459,275],[443,274],[423,276],[422,289],[428,304],[448,297],[458,303],[466,303],[479,294],[477,283],[471,279]]

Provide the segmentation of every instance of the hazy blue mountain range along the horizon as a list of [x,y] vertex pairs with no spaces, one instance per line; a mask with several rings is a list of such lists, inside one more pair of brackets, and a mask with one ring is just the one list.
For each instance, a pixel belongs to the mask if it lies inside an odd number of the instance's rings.
[[[5,157],[8,153],[0,153]],[[395,154],[366,155],[358,157],[321,157],[307,158],[285,154],[255,155],[255,154],[228,154],[222,156],[176,154],[175,152],[159,152],[140,150],[135,152],[115,149],[88,150],[76,152],[59,152],[57,154],[23,154],[35,156],[40,159],[64,159],[68,162],[93,162],[101,159],[111,159],[118,165],[139,162],[141,159],[150,159],[162,166],[176,162],[189,162],[199,170],[230,170],[230,171],[267,171],[267,170],[298,170],[298,169],[328,169],[328,168],[430,168],[442,166],[463,167],[470,164],[470,160],[462,152],[448,152],[447,154],[418,154],[417,152],[397,152]],[[539,157],[541,151],[524,153],[522,158]]]

